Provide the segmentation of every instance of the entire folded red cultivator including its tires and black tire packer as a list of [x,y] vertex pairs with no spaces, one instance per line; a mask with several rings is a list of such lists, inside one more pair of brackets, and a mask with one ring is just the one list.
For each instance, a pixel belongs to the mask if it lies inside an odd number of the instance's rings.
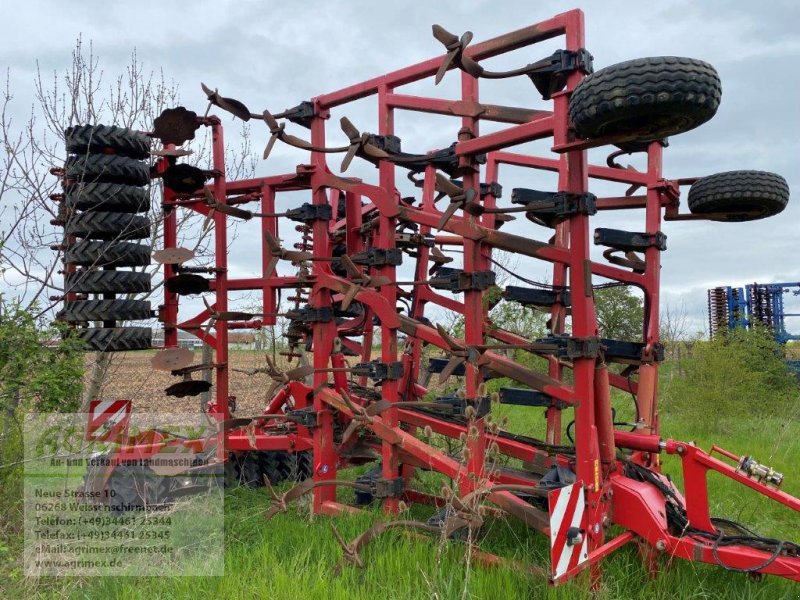
[[[378,501],[395,514],[402,504],[422,503],[431,506],[433,517],[381,522],[355,540],[337,533],[346,563],[363,565],[366,544],[388,529],[474,532],[487,515],[502,513],[549,540],[551,563],[543,572],[554,584],[589,567],[597,583],[602,559],[631,542],[649,548],[643,556],[651,562],[665,553],[800,580],[796,544],[709,514],[709,472],[800,510],[799,500],[778,489],[782,476],[752,457],[716,447],[705,452],[670,439],[659,422],[664,222],[763,218],[788,201],[785,181],[770,173],[682,179],[662,173],[666,136],[694,129],[717,111],[717,72],[680,57],[595,70],[579,10],[482,43],[473,44],[470,32],[457,36],[439,25],[433,35],[431,50],[438,41],[444,55],[280,113],[251,112],[203,85],[205,116],[183,107],[166,110],[149,136],[103,126],[68,130],[71,154],[59,198],[67,215],[62,318],[78,324],[77,335],[95,350],[150,346],[149,328],[120,322],[149,316],[147,303],[128,299],[149,290],[149,275],[124,269],[150,262],[150,248],[131,240],[149,231],[147,218],[136,216],[147,202],[139,186],[160,177],[164,234],[153,256],[163,265],[164,301],[157,315],[165,341],[153,366],[175,375],[167,390],[175,396],[206,392],[209,384],[196,377],[213,372],[214,400],[207,412],[224,441],[219,458],[228,480],[268,486],[268,516],[305,494],[312,496],[314,513],[356,510],[337,499],[337,488],[348,486],[360,504]],[[485,66],[487,59],[516,56],[520,49],[519,62],[526,63],[537,57],[537,44],[550,39],[561,40],[563,49],[510,71]],[[543,108],[480,101],[479,88],[507,77],[529,78],[531,105]],[[402,92],[410,83],[422,89],[424,82],[433,86],[448,78],[460,80],[457,98]],[[364,99],[377,107],[372,124],[350,112]],[[280,144],[307,158],[290,172],[228,180],[222,123],[212,109],[263,121],[265,159]],[[401,111],[439,115],[446,128],[441,131],[451,132],[452,141],[433,151],[407,151],[415,141],[398,137],[395,116]],[[331,119],[333,112],[340,118]],[[482,132],[484,125],[489,132]],[[186,152],[177,146],[200,127],[212,134],[210,170],[180,162]],[[342,134],[346,143],[328,145]],[[160,140],[163,150],[150,150],[151,139]],[[529,146],[518,148],[535,140],[546,140],[551,151],[542,156],[523,152]],[[587,150],[599,147],[609,152],[607,164],[590,164]],[[616,162],[634,152],[646,155],[646,170]],[[142,162],[148,153],[157,157],[150,169]],[[338,158],[329,164],[332,155]],[[359,161],[377,168],[372,181],[340,174]],[[508,166],[554,173],[557,186],[504,190],[501,173]],[[398,191],[396,180],[403,175],[415,195]],[[602,196],[597,181],[627,191]],[[690,212],[681,210],[687,188]],[[641,226],[590,227],[596,214],[618,210],[638,211]],[[215,251],[210,266],[177,247],[183,211],[207,217]],[[535,225],[504,231],[515,216]],[[237,278],[228,268],[229,227],[242,220],[260,223],[260,277]],[[298,236],[293,246],[287,241]],[[593,243],[604,249],[603,259],[592,258]],[[499,289],[495,251],[551,264],[552,281]],[[593,290],[609,283],[643,292],[641,339],[602,337]],[[258,314],[230,307],[232,294],[248,290],[263,297]],[[202,296],[205,308],[184,315],[182,297],[192,294]],[[497,327],[488,311],[498,302],[544,311],[549,335],[527,339]],[[463,333],[443,326],[445,312],[460,315]],[[273,382],[263,413],[234,414],[229,332],[273,327],[279,316],[289,320],[290,364],[267,361],[256,369]],[[91,321],[102,326],[87,326]],[[178,349],[179,330],[211,345],[213,364],[193,365],[191,353]],[[431,348],[438,349],[432,357]],[[515,362],[513,351],[544,357],[546,369]],[[291,364],[301,356],[308,361]],[[458,379],[460,393],[437,397],[431,374],[440,382]],[[484,382],[499,377],[513,383],[488,393]],[[635,400],[632,431],[615,427],[612,387]],[[543,409],[545,438],[506,431],[492,415],[498,402]],[[563,437],[564,419],[574,420],[569,440]],[[445,453],[431,443],[434,434],[461,440],[463,448]],[[664,455],[682,462],[683,492],[661,474]],[[496,456],[521,461],[524,468],[502,466]],[[342,469],[370,462],[376,468],[355,481],[339,477]],[[440,473],[454,484],[439,495],[422,493],[414,489],[416,470]],[[281,494],[272,489],[285,479],[302,481]]]

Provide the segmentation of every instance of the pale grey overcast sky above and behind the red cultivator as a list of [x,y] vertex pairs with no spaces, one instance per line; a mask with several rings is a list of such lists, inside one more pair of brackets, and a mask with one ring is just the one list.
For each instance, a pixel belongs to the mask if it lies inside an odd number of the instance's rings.
[[[460,34],[466,29],[481,41],[574,8],[565,2],[0,2],[3,36],[0,65],[8,67],[17,96],[15,110],[30,106],[36,61],[45,72],[69,66],[75,39],[91,40],[106,73],[124,69],[136,48],[148,69],[162,68],[181,88],[183,103],[205,109],[200,81],[244,101],[251,110],[279,111],[299,101],[441,54],[430,26],[439,23]],[[700,176],[736,169],[770,170],[783,175],[793,196],[800,188],[800,4],[793,1],[586,2],[587,48],[595,68],[642,56],[700,58],[719,71],[722,104],[701,128],[674,137],[665,153],[665,176]],[[521,66],[552,52],[555,42],[518,51],[503,67]],[[524,80],[524,81],[523,81]],[[441,90],[457,90],[449,73]],[[429,93],[415,86],[410,93]],[[542,105],[526,78],[482,82],[485,101],[518,106]],[[374,103],[372,103],[374,104]],[[345,114],[345,113],[342,113]],[[362,130],[376,129],[369,103],[346,113]],[[337,115],[338,116],[338,115]],[[226,116],[226,123],[228,119]],[[441,123],[441,121],[436,121]],[[333,124],[333,123],[332,123]],[[406,151],[447,145],[458,125],[435,128],[412,114],[398,118]],[[306,131],[289,128],[301,136]],[[228,140],[235,141],[237,127]],[[335,131],[335,129],[332,129]],[[266,139],[256,124],[256,146]],[[333,137],[332,141],[339,141]],[[538,148],[538,147],[537,147]],[[257,148],[260,151],[260,148]],[[593,154],[603,162],[604,154]],[[284,172],[303,155],[285,148],[261,163],[259,174]],[[641,161],[632,161],[641,164]],[[339,160],[330,161],[338,169]],[[351,174],[374,177],[358,165]],[[502,178],[501,178],[502,180]],[[513,173],[502,180],[506,197],[515,186],[537,187],[537,180]],[[539,184],[542,188],[542,184]],[[544,189],[544,188],[543,188]],[[600,194],[605,188],[598,188]],[[627,212],[627,211],[626,211]],[[638,213],[603,218],[601,226],[641,229]],[[794,198],[781,215],[741,224],[666,223],[669,250],[663,255],[667,304],[684,302],[693,327],[705,321],[705,290],[720,284],[800,280]],[[547,233],[518,220],[509,231],[546,239]],[[243,234],[247,239],[247,234]],[[232,256],[235,268],[257,269],[246,253]],[[527,267],[525,267],[527,270]],[[530,267],[536,277],[545,266]],[[795,329],[800,329],[800,326]]]

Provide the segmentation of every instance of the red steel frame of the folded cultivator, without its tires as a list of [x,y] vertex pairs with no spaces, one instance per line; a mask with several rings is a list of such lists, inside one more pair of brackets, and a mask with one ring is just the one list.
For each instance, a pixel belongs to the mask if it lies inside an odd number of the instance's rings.
[[[444,529],[449,532],[448,527],[474,525],[480,519],[477,501],[485,499],[522,519],[532,529],[550,536],[553,564],[548,574],[553,583],[564,582],[590,565],[593,581],[597,582],[601,559],[634,541],[645,550],[643,555],[651,568],[655,568],[655,557],[665,553],[734,570],[800,580],[796,546],[770,544],[763,538],[754,538],[762,540],[761,544],[751,543],[752,540],[734,543],[734,537],[726,533],[721,522],[709,516],[706,482],[709,471],[721,473],[790,509],[800,510],[800,501],[776,489],[780,483],[778,474],[755,461],[748,463],[745,459],[749,457],[740,458],[721,451],[736,462],[731,465],[690,443],[661,435],[657,402],[659,361],[663,358],[658,338],[660,253],[666,249],[661,227],[664,220],[713,218],[714,215],[679,212],[680,188],[694,179],[664,178],[664,144],[660,141],[646,144],[647,170],[643,172],[620,168],[613,160],[608,165],[588,163],[588,148],[625,139],[613,135],[576,138],[569,117],[569,100],[586,69],[582,71],[573,66],[561,72],[563,89],[551,90],[552,94],[548,92],[552,97],[550,111],[481,104],[480,78],[473,76],[474,70],[470,74],[469,68],[455,69],[461,77],[461,96],[457,100],[411,96],[396,91],[403,85],[436,76],[445,60],[452,60],[453,64],[449,65],[452,69],[465,57],[481,61],[560,36],[565,40],[564,48],[573,53],[572,56],[585,52],[581,11],[557,15],[470,45],[468,49],[466,43],[459,47],[453,42],[448,46],[448,58],[436,57],[313,98],[310,104],[305,104],[307,113],[303,117],[303,124],[310,129],[307,148],[310,158],[291,173],[243,181],[226,180],[222,124],[214,116],[199,117],[197,123],[210,127],[212,132],[213,171],[210,175],[213,182],[190,194],[178,194],[165,186],[163,242],[165,249],[178,244],[178,211],[194,210],[207,215],[213,225],[214,264],[209,268],[164,265],[167,282],[187,273],[205,272],[211,276],[204,295],[208,298],[206,309],[188,319],[179,319],[179,295],[169,289],[165,291],[164,303],[159,309],[159,319],[165,328],[164,345],[177,347],[178,330],[183,329],[215,350],[215,399],[209,406],[209,414],[220,422],[220,437],[224,442],[220,446],[220,458],[224,459],[226,452],[254,450],[313,453],[312,477],[282,496],[274,495],[271,513],[285,509],[287,501],[307,492],[313,494],[314,513],[336,515],[353,510],[337,501],[336,488],[340,483],[337,473],[348,466],[379,458],[380,477],[374,478],[367,487],[380,498],[387,513],[396,513],[401,501],[435,506],[450,503],[460,521],[445,520]],[[250,118],[249,111],[240,103],[222,98],[216,91],[206,91],[212,104]],[[350,103],[367,97],[374,98],[377,103],[377,131],[371,137],[367,134],[360,139],[351,136],[351,146],[356,147],[357,156],[376,164],[375,184],[334,174],[328,168],[327,153],[323,151],[330,111],[346,110]],[[384,148],[392,142],[390,136],[395,135],[394,117],[398,111],[418,111],[458,120],[458,137],[449,174],[460,176],[462,194],[452,193],[437,170],[441,163],[436,163],[431,158],[433,155],[429,155],[427,159],[419,159],[427,164],[415,169],[421,201],[406,202],[399,197],[395,179],[403,161],[370,155],[366,148],[368,144],[373,147],[383,144],[380,150],[386,154]],[[265,121],[273,136],[284,139],[285,132],[270,125],[270,118],[265,116]],[[288,118],[292,120],[291,116]],[[506,123],[508,127],[481,134],[482,121]],[[552,155],[535,156],[508,150],[543,139],[552,139]],[[170,150],[174,146],[165,144],[165,148]],[[481,155],[485,155],[483,178]],[[162,158],[156,170],[163,174],[173,163],[174,160]],[[557,173],[561,195],[549,197],[550,204],[539,199],[536,205],[547,213],[557,201],[568,201],[564,206],[569,208],[550,220],[554,229],[550,241],[500,231],[504,209],[498,202],[498,188],[492,184],[499,183],[501,171],[507,166]],[[592,180],[629,185],[632,191],[619,197],[594,198],[589,195]],[[449,216],[437,207],[437,194],[448,190],[451,192],[448,199],[455,205]],[[636,190],[641,191],[636,193]],[[276,252],[270,239],[278,238],[281,231],[294,222],[275,215],[284,209],[281,194],[294,191],[310,195],[310,217],[302,226],[310,243],[310,256],[300,261],[305,267],[297,275],[276,276],[272,272]],[[247,203],[259,206],[256,216],[261,224],[264,276],[235,278],[228,271],[227,232],[230,220],[242,216],[235,209]],[[340,203],[344,206],[341,217]],[[455,212],[457,209],[460,211]],[[628,209],[644,211],[642,232],[597,230],[592,234],[590,216],[596,211]],[[331,218],[320,218],[326,210]],[[552,215],[552,211],[547,214]],[[403,224],[413,224],[417,230],[411,232],[411,236],[398,235]],[[618,233],[625,234],[624,243],[614,237]],[[607,261],[592,259],[593,240],[607,246],[604,255]],[[362,257],[357,266],[360,273],[343,270],[341,262],[340,268],[333,268],[334,247],[340,244],[344,245],[347,256]],[[413,290],[410,308],[402,314],[397,310],[398,296],[406,293],[399,291],[402,284],[387,283],[397,281],[398,266],[396,260],[387,257],[397,256],[395,250],[401,246],[403,256],[408,257],[412,244],[415,245],[415,284],[410,286]],[[463,300],[419,283],[428,279],[429,269],[438,264],[433,260],[432,246],[463,251],[460,270],[448,273],[451,291],[460,292]],[[491,271],[494,249],[552,263],[550,337],[528,340],[495,327],[487,318],[486,290],[494,283],[487,273]],[[632,250],[636,254],[631,254]],[[640,344],[629,344],[620,350],[619,342],[599,337],[593,276],[643,291],[644,323]],[[408,285],[404,287],[409,288]],[[274,326],[280,310],[279,292],[285,289],[308,291],[307,306],[294,316],[299,315],[306,321],[313,369],[303,374],[313,380],[305,383],[301,377],[288,377],[272,369],[279,385],[264,414],[235,416],[229,404],[229,331]],[[262,315],[230,310],[229,294],[240,291],[263,294]],[[342,307],[345,298],[360,304],[363,310],[356,316],[337,320],[335,309]],[[432,307],[463,316],[463,339],[451,337],[426,317],[426,310],[430,315]],[[373,360],[373,339],[378,334],[381,354]],[[423,347],[428,345],[443,351],[448,362],[442,369],[443,375],[463,371],[464,394],[460,410],[464,418],[447,418],[437,412],[439,402],[423,401],[428,392],[420,383]],[[516,363],[500,352],[505,349],[523,349],[545,357],[547,373]],[[359,367],[348,366],[345,351],[359,357]],[[623,374],[610,371],[607,362],[612,361],[627,363],[628,370]],[[571,383],[565,377],[567,371],[572,371]],[[634,373],[638,373],[638,377],[632,380]],[[487,419],[491,402],[482,386],[487,375],[507,377],[535,390],[526,403],[546,410],[544,440],[508,435]],[[379,383],[379,396],[365,391],[370,378]],[[639,417],[635,431],[614,428],[611,387],[634,395]],[[562,411],[568,408],[574,411],[574,448],[562,442]],[[463,456],[450,456],[421,439],[417,434],[423,430],[464,440]],[[494,452],[521,460],[531,470],[487,467],[487,453]],[[681,459],[685,497],[660,474],[662,454],[674,454]],[[573,470],[575,483],[555,490],[543,490],[538,486],[544,473],[554,466]],[[458,489],[447,497],[415,491],[410,487],[415,469],[441,473],[456,481]],[[558,498],[559,490],[566,488],[571,494],[564,500],[569,503],[566,516],[571,517],[571,521],[564,519],[566,505],[559,504]],[[539,496],[542,501],[531,502],[531,496]],[[676,528],[677,524],[682,525],[681,530]],[[610,533],[611,526],[619,526],[624,531]],[[746,537],[741,530],[737,531],[740,538]],[[343,542],[343,545],[345,558],[360,564],[360,542]],[[573,546],[576,551],[566,550]]]

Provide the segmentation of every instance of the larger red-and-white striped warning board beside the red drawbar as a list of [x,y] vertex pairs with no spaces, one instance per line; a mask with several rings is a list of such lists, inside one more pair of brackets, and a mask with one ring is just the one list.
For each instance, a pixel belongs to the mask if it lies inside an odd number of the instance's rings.
[[586,501],[583,485],[573,483],[548,494],[550,510],[550,578],[564,574],[586,562]]

